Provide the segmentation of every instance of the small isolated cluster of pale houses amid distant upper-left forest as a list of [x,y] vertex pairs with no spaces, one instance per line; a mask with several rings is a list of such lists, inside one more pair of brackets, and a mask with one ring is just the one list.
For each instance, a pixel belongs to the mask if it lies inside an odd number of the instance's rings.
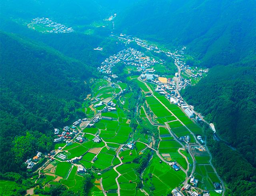
[[37,24],[46,27],[44,32],[48,33],[70,33],[73,32],[72,27],[66,27],[64,24],[60,24],[50,20],[49,18],[34,18],[30,25]]

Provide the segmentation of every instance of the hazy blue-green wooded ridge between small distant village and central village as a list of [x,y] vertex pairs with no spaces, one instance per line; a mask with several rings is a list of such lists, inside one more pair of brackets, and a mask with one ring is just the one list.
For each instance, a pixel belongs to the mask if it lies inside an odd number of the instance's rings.
[[[36,42],[43,42],[64,55],[78,59],[92,67],[98,67],[99,63],[104,61],[106,57],[124,48],[124,44],[108,36],[110,33],[108,30],[100,29],[93,35],[86,35],[81,32],[44,34],[8,18],[1,18],[0,27],[5,32],[20,34]],[[98,46],[102,48],[102,51],[94,50]]]

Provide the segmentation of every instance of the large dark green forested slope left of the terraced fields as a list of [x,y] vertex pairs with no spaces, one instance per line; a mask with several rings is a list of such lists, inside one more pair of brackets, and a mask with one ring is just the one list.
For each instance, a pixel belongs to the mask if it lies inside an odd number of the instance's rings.
[[[52,140],[44,134],[49,135],[53,126],[76,117],[74,110],[88,91],[84,81],[92,76],[93,69],[52,48],[39,46],[14,34],[1,32],[0,41],[0,137],[4,141],[0,149],[0,168],[1,172],[6,172],[16,171],[23,159],[36,149],[51,149]],[[13,148],[14,137],[26,135],[26,130],[40,131],[33,137],[39,137],[38,142],[45,143],[38,145],[37,140],[28,135],[28,141],[20,145],[29,150]]]

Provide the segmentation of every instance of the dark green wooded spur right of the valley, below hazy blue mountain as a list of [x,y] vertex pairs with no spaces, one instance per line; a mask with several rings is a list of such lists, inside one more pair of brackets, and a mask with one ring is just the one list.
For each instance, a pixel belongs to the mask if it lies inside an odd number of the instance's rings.
[[[220,71],[221,70],[221,71]],[[218,134],[256,166],[256,67],[216,66],[183,95]],[[206,93],[207,92],[207,93]]]

